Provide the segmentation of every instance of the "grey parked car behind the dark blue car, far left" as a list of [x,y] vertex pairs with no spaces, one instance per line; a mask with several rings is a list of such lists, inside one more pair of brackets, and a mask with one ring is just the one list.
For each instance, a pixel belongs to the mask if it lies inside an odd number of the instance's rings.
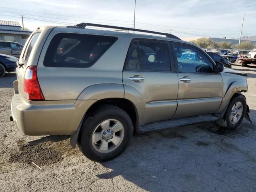
[[0,54],[20,57],[23,45],[12,41],[0,41]]

